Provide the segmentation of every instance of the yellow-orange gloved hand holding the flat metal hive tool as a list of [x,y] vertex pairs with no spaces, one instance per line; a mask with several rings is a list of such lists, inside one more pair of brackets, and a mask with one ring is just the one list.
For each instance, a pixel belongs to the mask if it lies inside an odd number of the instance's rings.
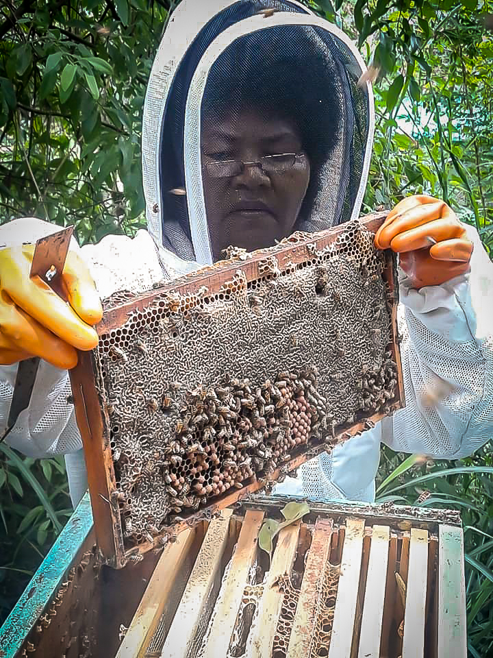
[[34,245],[0,249],[0,365],[39,356],[56,367],[77,364],[78,350],[98,343],[90,326],[103,308],[88,268],[69,251],[62,273],[62,300],[38,276],[29,277]]

